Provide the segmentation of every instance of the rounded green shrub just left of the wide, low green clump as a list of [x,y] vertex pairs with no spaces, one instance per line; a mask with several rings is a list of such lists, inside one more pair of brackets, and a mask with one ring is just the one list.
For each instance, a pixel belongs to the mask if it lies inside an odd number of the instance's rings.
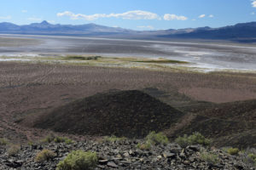
[[151,132],[146,137],[149,144],[168,144],[169,140],[164,133]]

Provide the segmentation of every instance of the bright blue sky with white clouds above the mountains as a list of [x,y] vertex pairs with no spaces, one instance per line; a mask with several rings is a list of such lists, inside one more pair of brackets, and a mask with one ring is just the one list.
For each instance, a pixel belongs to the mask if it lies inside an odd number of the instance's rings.
[[96,23],[133,30],[256,21],[256,0],[1,0],[0,22]]

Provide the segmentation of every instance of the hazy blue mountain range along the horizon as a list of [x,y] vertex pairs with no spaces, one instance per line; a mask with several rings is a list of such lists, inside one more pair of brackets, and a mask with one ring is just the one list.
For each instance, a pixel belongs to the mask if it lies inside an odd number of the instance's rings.
[[256,39],[256,22],[241,23],[235,26],[220,28],[200,27],[187,29],[170,29],[160,31],[133,31],[119,27],[86,24],[53,25],[47,21],[18,26],[9,22],[0,23],[0,33],[8,34],[36,34],[36,35],[73,35],[89,37],[129,37],[129,38],[191,38],[191,39],[228,39],[253,41]]

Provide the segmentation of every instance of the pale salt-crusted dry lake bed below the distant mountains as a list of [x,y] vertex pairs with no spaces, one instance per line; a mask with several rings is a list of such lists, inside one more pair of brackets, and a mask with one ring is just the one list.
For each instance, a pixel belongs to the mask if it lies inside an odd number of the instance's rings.
[[[199,71],[256,71],[256,45],[253,44],[188,40],[164,42],[93,37],[0,36],[2,61],[67,62],[67,60],[63,61],[63,57],[70,55],[103,57],[100,63],[92,61],[90,65],[179,67]],[[175,62],[128,63],[129,59],[137,61],[164,59]],[[71,59],[68,62],[71,62]],[[83,64],[83,61],[78,59],[73,62]],[[84,61],[84,64],[88,63]]]

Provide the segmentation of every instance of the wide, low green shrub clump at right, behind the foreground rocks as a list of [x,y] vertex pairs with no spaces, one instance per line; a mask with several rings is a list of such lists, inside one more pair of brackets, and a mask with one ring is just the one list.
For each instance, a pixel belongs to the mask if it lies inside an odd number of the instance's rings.
[[201,133],[193,133],[191,135],[184,134],[183,137],[179,136],[175,142],[181,147],[185,148],[190,144],[202,144],[204,146],[210,145],[211,140],[205,138]]

